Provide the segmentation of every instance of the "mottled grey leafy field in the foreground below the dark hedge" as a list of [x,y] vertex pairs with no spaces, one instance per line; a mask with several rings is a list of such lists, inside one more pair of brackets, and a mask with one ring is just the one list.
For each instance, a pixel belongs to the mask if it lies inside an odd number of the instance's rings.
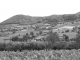
[[0,60],[80,60],[80,50],[0,51]]

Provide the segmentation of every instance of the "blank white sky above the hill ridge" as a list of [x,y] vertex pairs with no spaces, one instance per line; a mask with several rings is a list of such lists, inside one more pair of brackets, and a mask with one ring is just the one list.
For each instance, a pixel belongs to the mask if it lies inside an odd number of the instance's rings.
[[79,0],[0,0],[0,22],[17,14],[49,16],[80,12]]

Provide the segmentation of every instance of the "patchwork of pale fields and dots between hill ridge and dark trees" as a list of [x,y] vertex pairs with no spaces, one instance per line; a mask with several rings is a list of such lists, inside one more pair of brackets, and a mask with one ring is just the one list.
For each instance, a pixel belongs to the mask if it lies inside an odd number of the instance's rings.
[[49,23],[36,23],[33,25],[19,25],[19,24],[11,24],[6,28],[0,29],[0,39],[10,40],[10,38],[18,36],[22,38],[27,33],[34,33],[35,39],[31,41],[43,40],[48,36],[50,31],[58,33],[59,37],[62,38],[63,35],[67,35],[69,39],[75,38],[77,32],[80,28],[80,22],[58,22],[56,26],[53,26]]

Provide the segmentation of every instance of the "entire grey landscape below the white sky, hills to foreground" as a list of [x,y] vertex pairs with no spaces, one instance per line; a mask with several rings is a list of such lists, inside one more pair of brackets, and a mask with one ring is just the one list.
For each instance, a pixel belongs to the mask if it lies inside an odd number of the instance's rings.
[[80,12],[6,19],[0,23],[0,60],[80,60]]

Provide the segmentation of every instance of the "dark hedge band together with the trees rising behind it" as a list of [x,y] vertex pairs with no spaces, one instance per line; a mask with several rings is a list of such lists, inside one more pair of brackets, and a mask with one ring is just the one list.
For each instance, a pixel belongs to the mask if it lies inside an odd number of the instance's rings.
[[[34,35],[31,33],[31,36],[26,34],[22,39],[21,43],[0,43],[0,51],[22,51],[22,50],[43,50],[43,49],[80,49],[80,34],[76,35],[76,38],[69,39],[67,35],[63,35],[63,38],[59,38],[57,33],[49,32],[45,42],[42,43],[24,43],[28,39],[33,39]],[[18,37],[13,38],[12,41],[20,41]]]

